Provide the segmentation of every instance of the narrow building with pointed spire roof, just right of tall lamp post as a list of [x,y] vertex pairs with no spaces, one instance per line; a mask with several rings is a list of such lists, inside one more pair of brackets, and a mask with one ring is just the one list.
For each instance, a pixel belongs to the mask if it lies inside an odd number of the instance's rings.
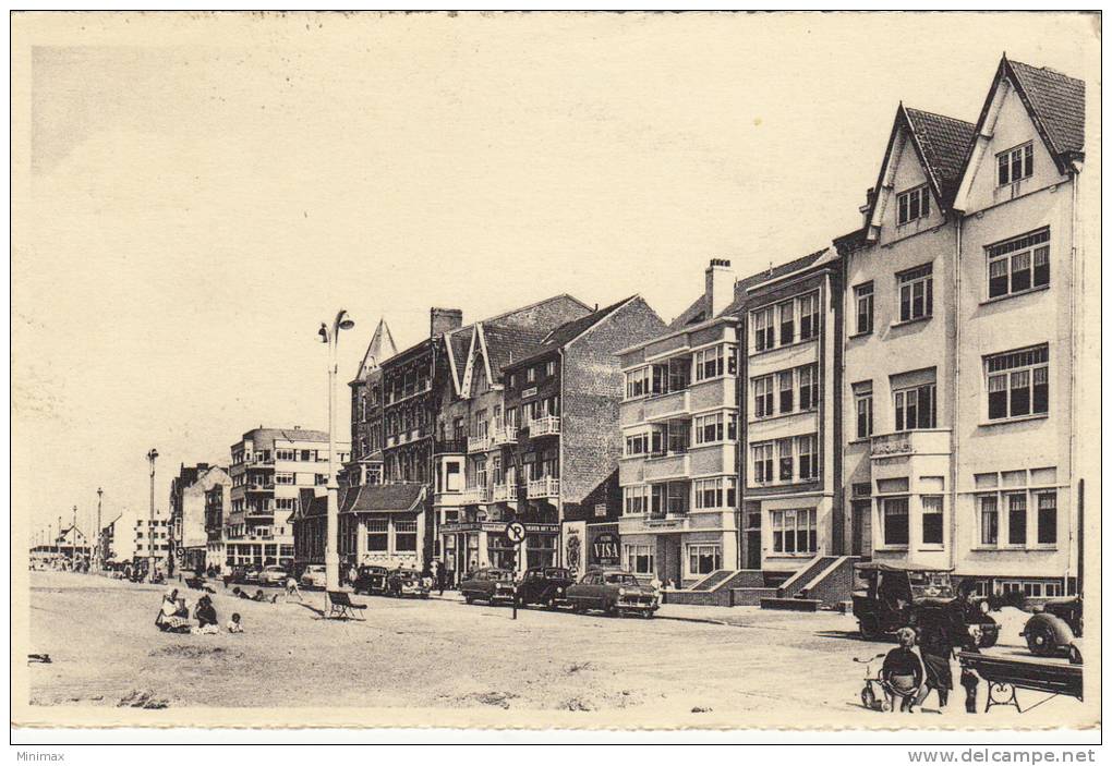
[[380,319],[359,364],[359,372],[348,384],[351,457],[340,471],[340,486],[383,483],[383,362],[397,352],[390,328]]

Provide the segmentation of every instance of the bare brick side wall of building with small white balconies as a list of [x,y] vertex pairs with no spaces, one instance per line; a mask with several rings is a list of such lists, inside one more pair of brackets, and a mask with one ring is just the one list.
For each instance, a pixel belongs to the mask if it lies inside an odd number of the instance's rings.
[[564,354],[560,496],[582,504],[617,467],[618,402],[624,379],[615,352],[664,332],[666,325],[634,298],[569,344]]

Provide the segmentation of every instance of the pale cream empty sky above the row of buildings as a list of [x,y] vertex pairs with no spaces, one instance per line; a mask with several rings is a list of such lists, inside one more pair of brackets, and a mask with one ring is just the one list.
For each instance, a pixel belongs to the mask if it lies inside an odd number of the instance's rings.
[[430,306],[671,319],[711,258],[855,229],[901,100],[975,121],[1005,50],[1093,99],[1093,18],[18,17],[13,513],[146,513],[151,447],[165,509],[181,462],[325,428],[340,308],[344,436],[379,318],[399,348]]

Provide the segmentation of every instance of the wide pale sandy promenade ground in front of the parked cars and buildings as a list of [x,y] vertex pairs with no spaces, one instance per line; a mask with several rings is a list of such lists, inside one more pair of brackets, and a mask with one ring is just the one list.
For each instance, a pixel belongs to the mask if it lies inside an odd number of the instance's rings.
[[[684,619],[620,619],[527,609],[515,621],[508,607],[359,597],[369,608],[355,623],[322,619],[319,591],[271,605],[224,589],[214,597],[221,624],[239,611],[247,633],[170,635],[153,626],[162,588],[61,573],[32,573],[31,586],[31,650],[53,659],[30,668],[40,705],[607,710],[676,725],[713,710],[737,725],[782,713],[785,726],[833,712],[867,723],[880,714],[857,703],[863,667],[852,657],[888,648],[858,640],[853,618],[836,614],[665,607]],[[693,621],[715,613],[734,624]],[[964,714],[946,716],[960,725]]]

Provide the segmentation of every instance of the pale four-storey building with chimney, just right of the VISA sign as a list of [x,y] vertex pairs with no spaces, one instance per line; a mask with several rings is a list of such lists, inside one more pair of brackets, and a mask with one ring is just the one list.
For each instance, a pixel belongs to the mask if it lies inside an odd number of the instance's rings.
[[695,309],[618,354],[620,564],[677,587],[738,560],[736,278],[714,259]]

